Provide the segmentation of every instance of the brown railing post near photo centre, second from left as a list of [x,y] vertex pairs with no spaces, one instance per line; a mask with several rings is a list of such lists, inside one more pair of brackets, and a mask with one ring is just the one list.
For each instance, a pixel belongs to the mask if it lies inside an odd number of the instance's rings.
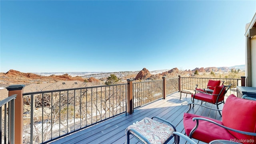
[[132,81],[131,79],[128,79],[127,80],[127,84],[128,84],[128,88],[127,88],[127,113],[128,114],[132,114],[132,111],[133,111],[133,103],[132,103],[132,93],[133,93],[133,90],[132,90]]

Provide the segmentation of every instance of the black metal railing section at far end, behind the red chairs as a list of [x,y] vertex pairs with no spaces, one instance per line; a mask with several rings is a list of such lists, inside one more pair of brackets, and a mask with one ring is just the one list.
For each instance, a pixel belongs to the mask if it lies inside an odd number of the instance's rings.
[[237,95],[236,86],[241,84],[240,78],[180,78],[180,88],[181,90],[194,90],[196,88],[196,84],[198,84],[198,88],[206,88],[209,80],[220,80],[221,83],[224,82],[224,85],[230,85],[230,90],[226,93],[226,96],[230,94]]

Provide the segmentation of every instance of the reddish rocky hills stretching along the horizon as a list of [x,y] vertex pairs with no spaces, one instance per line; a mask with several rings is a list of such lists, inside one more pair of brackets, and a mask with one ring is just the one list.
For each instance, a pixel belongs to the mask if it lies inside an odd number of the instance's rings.
[[[6,73],[0,73],[0,87],[6,87],[12,84],[41,84],[41,83],[54,83],[59,81],[70,81],[77,80],[81,82],[92,82],[94,84],[102,84],[107,80],[107,77],[110,74],[115,74],[123,82],[127,79],[135,80],[156,80],[162,79],[163,76],[167,78],[174,78],[180,76],[193,76],[194,72],[219,72],[225,73],[230,72],[231,69],[239,69],[243,71],[245,65],[232,66],[232,67],[208,67],[208,68],[195,68],[194,70],[178,70],[178,68],[172,68],[171,70],[155,70],[149,71],[146,68],[143,68],[141,71],[127,71],[127,72],[104,72],[97,74],[90,74],[84,76],[70,76],[69,74],[62,75],[50,75],[42,76],[40,74],[34,73],[23,73],[17,70],[9,70]],[[81,75],[82,72],[80,72]]]

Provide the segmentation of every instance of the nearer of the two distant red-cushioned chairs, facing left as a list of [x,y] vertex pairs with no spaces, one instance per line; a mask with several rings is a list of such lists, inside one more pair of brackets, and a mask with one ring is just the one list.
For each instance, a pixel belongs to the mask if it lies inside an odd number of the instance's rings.
[[[224,104],[224,96],[226,94],[226,92],[228,91],[228,89],[230,88],[231,85],[228,86],[215,86],[214,91],[212,92],[212,94],[208,94],[205,92],[198,92],[196,94],[192,94],[191,98],[192,98],[192,102],[195,102],[195,99],[197,100],[201,100],[202,102],[209,102],[211,104],[216,104],[217,109],[219,109],[218,105],[220,104]],[[201,102],[201,104],[202,104]],[[193,104],[193,108],[194,108],[194,104]],[[218,111],[220,116],[221,113],[220,111]]]

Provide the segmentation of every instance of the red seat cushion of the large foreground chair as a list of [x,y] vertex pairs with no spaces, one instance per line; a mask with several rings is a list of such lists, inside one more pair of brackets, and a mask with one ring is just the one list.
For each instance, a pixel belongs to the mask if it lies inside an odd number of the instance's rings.
[[[194,126],[196,126],[196,121],[192,120],[192,118],[194,117],[206,118],[204,116],[184,113],[183,124],[185,132],[188,136],[190,134],[190,131],[194,128]],[[217,122],[218,124],[222,124],[222,121],[214,120],[212,118],[207,119]],[[217,126],[216,124],[213,124],[211,122],[199,120],[198,128],[193,133],[192,138],[209,143],[212,140],[230,140],[234,139],[235,137],[230,134],[225,128]]]

